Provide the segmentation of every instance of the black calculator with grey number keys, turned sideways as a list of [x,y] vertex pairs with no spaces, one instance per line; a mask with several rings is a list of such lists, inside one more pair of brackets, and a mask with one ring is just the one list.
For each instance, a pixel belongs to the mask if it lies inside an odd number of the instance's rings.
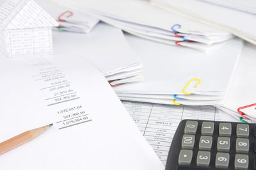
[[256,169],[256,124],[182,120],[166,170]]

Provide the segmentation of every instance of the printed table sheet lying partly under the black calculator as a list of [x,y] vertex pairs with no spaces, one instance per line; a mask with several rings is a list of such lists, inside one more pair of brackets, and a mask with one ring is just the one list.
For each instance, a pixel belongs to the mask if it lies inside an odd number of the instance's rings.
[[221,120],[218,111],[212,106],[164,105],[128,101],[122,101],[122,103],[164,166],[173,135],[181,120]]

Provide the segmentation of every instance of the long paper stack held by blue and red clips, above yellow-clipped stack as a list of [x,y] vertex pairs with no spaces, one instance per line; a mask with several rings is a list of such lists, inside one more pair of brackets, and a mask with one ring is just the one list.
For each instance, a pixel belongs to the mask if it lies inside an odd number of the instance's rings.
[[207,51],[218,43],[232,38],[227,31],[165,12],[151,6],[145,0],[64,0],[60,2],[81,12],[90,10],[100,20],[133,35],[170,45],[182,45]]

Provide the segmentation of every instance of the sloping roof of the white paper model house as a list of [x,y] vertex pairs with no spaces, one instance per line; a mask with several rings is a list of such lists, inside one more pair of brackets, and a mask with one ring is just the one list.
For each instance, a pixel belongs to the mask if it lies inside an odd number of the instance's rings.
[[58,26],[33,0],[6,0],[0,6],[1,29],[25,29]]

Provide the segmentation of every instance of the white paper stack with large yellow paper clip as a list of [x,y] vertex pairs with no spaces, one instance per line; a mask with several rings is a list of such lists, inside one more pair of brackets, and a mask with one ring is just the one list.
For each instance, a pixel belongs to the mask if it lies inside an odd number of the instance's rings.
[[232,38],[205,54],[132,35],[126,37],[142,59],[145,81],[114,89],[122,100],[139,102],[218,105],[225,96],[243,50],[243,40],[239,38]]

